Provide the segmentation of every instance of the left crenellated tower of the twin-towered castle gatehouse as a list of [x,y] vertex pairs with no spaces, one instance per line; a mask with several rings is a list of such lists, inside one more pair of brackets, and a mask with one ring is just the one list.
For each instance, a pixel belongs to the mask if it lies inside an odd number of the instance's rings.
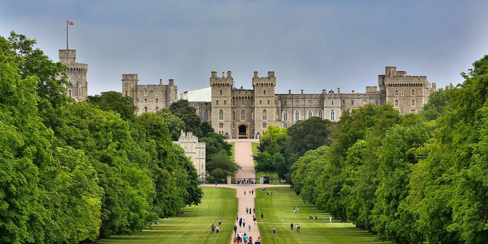
[[215,132],[230,138],[232,135],[231,91],[234,86],[231,72],[227,71],[227,77],[223,72],[222,77],[217,77],[217,72],[212,71],[210,86],[212,88],[211,125]]

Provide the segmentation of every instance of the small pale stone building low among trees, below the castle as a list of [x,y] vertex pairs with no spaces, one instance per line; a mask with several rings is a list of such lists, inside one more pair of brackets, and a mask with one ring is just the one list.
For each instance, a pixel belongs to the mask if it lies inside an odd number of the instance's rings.
[[192,132],[183,132],[178,138],[178,142],[174,142],[185,150],[185,155],[190,158],[197,169],[197,174],[201,182],[206,179],[205,167],[205,142],[198,142],[198,137],[192,134]]

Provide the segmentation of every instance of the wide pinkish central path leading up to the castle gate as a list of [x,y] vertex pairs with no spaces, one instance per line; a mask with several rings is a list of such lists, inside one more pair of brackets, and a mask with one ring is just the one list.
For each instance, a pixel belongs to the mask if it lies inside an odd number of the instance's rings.
[[[237,178],[255,178],[254,173],[254,160],[252,160],[252,142],[259,142],[259,139],[228,139],[227,142],[234,142],[234,157],[238,165],[241,165],[241,170],[236,173]],[[245,227],[239,227],[239,222],[236,221],[237,233],[241,231],[247,236],[252,236],[252,242],[254,243],[259,236],[259,229],[257,224],[252,222],[253,213],[245,213],[245,208],[254,208],[254,197],[256,197],[256,190],[262,190],[262,188],[269,188],[273,186],[284,185],[261,185],[261,184],[239,184],[239,185],[227,185],[220,184],[218,187],[222,188],[234,188],[236,189],[236,197],[238,199],[238,217],[245,220]],[[250,194],[250,191],[254,190],[254,194]],[[244,194],[245,192],[245,194]],[[261,219],[261,213],[255,214],[257,222]],[[249,231],[248,224],[251,225],[251,231]],[[234,243],[234,231],[232,231],[231,244]]]

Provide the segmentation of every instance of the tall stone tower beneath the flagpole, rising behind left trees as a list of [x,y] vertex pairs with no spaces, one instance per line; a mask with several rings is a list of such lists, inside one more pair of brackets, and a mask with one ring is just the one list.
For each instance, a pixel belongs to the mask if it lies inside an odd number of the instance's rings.
[[77,101],[86,100],[86,96],[88,96],[88,82],[86,82],[88,64],[76,62],[75,49],[60,49],[59,61],[68,66],[68,69],[64,70],[68,76],[68,82],[72,84],[72,86],[66,87],[68,96]]

